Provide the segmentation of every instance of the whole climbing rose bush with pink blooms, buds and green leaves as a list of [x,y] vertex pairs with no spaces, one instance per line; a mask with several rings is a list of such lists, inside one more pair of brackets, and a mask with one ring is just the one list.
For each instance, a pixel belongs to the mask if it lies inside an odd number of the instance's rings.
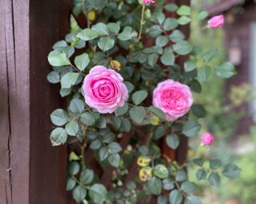
[[[160,140],[176,150],[186,137],[197,138],[201,148],[214,142],[210,133],[198,134],[206,111],[193,92],[200,93],[211,74],[228,78],[235,70],[229,62],[211,67],[218,50],[204,53],[182,33],[182,26],[205,19],[205,11],[192,14],[189,6],[163,0],[74,0],[73,13],[70,33],[48,56],[53,71],[47,79],[60,83],[66,98],[66,109],[50,115],[50,139],[54,146],[68,144],[66,190],[76,202],[138,203],[155,196],[158,203],[197,204],[187,165],[198,166],[197,179],[213,186],[220,175],[239,176],[234,163],[178,163],[161,148]],[[205,27],[222,25],[220,16]]]

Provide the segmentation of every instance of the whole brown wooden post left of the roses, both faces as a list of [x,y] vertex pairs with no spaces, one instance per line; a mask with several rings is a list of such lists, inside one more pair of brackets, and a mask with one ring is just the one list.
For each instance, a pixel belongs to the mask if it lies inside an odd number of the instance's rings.
[[50,144],[60,106],[46,57],[69,28],[70,0],[0,0],[0,203],[65,203],[65,147]]

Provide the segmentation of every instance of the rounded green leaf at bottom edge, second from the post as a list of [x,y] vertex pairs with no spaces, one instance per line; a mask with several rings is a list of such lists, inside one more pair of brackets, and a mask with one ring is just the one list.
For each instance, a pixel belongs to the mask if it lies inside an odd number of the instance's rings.
[[90,187],[89,195],[95,203],[104,202],[107,196],[106,187],[102,184],[94,184]]

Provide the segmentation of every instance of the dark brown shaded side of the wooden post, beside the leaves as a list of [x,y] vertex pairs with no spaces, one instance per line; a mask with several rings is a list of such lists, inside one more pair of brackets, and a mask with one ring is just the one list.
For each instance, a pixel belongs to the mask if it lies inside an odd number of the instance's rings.
[[66,146],[52,147],[50,112],[59,87],[46,80],[47,55],[69,29],[70,0],[30,0],[30,203],[66,202]]

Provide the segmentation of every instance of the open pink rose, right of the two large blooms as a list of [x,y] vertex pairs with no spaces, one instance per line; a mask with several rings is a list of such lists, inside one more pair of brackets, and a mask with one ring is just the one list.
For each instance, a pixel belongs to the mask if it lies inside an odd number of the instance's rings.
[[174,80],[160,82],[153,94],[154,107],[166,113],[166,120],[177,120],[189,112],[193,104],[190,88]]

